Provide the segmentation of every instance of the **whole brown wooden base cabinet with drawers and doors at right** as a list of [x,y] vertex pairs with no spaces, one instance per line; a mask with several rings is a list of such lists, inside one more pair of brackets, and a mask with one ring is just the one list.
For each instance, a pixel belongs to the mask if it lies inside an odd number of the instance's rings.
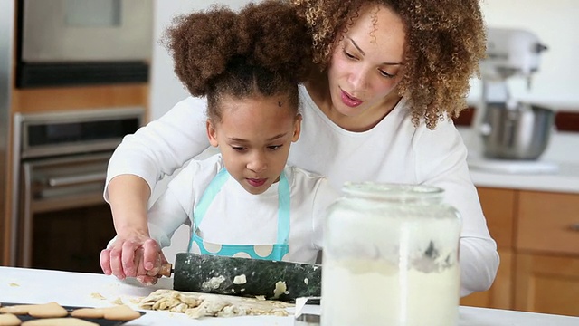
[[501,263],[460,304],[579,316],[579,194],[479,187]]

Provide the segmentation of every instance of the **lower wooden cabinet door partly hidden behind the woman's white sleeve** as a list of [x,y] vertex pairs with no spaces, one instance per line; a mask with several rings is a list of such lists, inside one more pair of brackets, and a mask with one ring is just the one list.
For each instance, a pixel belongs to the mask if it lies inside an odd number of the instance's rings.
[[474,292],[460,299],[460,305],[512,309],[514,255],[509,250],[498,250],[500,265],[497,277],[489,291]]

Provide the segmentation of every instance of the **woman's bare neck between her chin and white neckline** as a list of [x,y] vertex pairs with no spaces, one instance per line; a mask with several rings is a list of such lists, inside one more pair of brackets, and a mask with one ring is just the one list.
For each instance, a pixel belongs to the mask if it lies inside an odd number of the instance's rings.
[[332,120],[338,127],[353,132],[363,132],[373,129],[382,121],[396,104],[402,99],[396,91],[392,91],[375,107],[365,110],[362,114],[349,117],[338,112],[332,103],[329,88],[327,85],[327,74],[320,73],[304,82],[306,90],[312,101],[324,112],[329,120]]

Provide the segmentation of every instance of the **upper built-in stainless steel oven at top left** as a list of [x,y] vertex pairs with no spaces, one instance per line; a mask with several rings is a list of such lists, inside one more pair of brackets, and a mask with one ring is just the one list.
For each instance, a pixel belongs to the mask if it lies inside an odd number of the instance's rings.
[[153,0],[18,0],[20,88],[147,82]]

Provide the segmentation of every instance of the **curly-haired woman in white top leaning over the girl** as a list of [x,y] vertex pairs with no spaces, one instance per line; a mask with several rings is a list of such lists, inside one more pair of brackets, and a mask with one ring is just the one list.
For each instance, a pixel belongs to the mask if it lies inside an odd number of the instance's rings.
[[[496,243],[470,180],[467,149],[451,124],[466,107],[485,51],[478,0],[292,4],[310,28],[315,69],[300,88],[301,137],[289,164],[326,175],[337,188],[346,180],[443,188],[463,218],[461,294],[487,290],[498,268]],[[177,103],[128,136],[111,158],[105,197],[119,241],[105,254],[118,277],[135,275],[135,250],[156,273],[147,199],[159,178],[209,146],[204,129],[195,127],[204,107],[193,98]]]

